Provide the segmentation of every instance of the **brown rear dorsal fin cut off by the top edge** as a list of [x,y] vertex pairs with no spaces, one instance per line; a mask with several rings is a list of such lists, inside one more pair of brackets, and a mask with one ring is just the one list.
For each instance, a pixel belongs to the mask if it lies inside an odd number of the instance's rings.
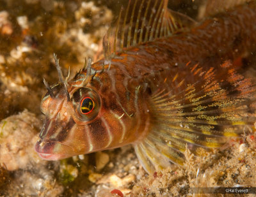
[[205,2],[205,5],[202,6],[199,11],[198,18],[204,18],[207,16],[214,15],[216,13],[220,13],[221,11],[225,11],[239,4],[243,4],[249,2],[251,0],[208,0]]

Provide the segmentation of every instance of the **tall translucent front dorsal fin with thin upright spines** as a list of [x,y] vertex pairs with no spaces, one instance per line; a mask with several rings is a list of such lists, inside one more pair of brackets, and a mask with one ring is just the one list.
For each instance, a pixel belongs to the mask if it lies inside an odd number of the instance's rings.
[[184,24],[194,21],[167,8],[168,0],[129,0],[117,20],[104,36],[104,55],[108,57],[124,48],[156,38],[171,36]]

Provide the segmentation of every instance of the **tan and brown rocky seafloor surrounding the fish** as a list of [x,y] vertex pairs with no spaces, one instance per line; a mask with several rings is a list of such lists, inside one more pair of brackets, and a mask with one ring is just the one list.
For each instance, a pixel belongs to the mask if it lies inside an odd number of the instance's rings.
[[[64,75],[68,68],[74,75],[85,57],[99,54],[122,2],[0,0],[1,196],[221,196],[191,194],[189,188],[256,187],[253,133],[205,157],[186,152],[184,166],[152,175],[130,146],[61,161],[38,157],[42,78],[58,82],[52,54],[58,54]],[[195,17],[200,1],[171,3]]]

